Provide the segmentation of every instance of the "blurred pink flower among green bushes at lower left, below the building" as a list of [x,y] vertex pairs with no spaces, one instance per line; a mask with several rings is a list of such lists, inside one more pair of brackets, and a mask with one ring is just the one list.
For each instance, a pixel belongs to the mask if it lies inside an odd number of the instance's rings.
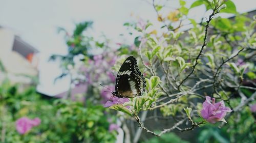
[[41,123],[41,120],[39,118],[35,118],[33,120],[23,117],[16,121],[16,130],[20,134],[25,134],[28,131],[31,130],[32,127],[38,126]]

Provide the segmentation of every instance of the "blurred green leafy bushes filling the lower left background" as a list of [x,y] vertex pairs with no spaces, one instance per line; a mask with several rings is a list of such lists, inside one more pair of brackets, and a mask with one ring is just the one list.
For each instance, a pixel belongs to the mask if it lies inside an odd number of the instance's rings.
[[[102,105],[38,95],[35,87],[19,92],[5,80],[0,86],[2,142],[114,142]],[[24,135],[15,128],[21,117],[40,118],[41,124]]]

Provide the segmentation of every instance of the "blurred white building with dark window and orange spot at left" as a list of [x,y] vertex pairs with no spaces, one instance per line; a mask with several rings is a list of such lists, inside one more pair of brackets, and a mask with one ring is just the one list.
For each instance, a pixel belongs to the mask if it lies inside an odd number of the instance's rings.
[[32,83],[29,77],[38,76],[38,52],[15,32],[0,26],[0,82],[7,77],[12,83]]

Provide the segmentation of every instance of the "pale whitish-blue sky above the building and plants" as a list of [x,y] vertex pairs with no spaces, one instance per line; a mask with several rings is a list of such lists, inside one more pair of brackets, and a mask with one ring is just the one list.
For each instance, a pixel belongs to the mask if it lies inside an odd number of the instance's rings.
[[[74,23],[94,21],[93,33],[118,42],[118,36],[125,33],[124,22],[135,17],[156,21],[156,13],[146,0],[0,0],[0,25],[15,31],[24,41],[40,51],[38,90],[55,95],[68,89],[69,79],[53,83],[61,71],[57,63],[49,63],[51,54],[66,54],[67,46],[57,27],[72,31]],[[151,1],[150,1],[151,2]],[[175,8],[179,1],[169,0],[168,6]],[[187,0],[187,5],[193,3]],[[248,12],[256,9],[255,0],[233,0],[237,11]],[[193,9],[190,17],[201,18],[204,9]],[[131,16],[133,15],[133,16]]]

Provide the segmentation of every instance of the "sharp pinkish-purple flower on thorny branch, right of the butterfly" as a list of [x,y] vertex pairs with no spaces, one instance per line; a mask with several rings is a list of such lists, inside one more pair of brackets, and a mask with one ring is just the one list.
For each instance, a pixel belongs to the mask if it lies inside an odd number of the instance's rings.
[[[211,103],[212,102],[212,103]],[[201,116],[206,119],[209,123],[215,124],[218,121],[224,121],[224,117],[227,112],[232,110],[226,107],[224,101],[215,103],[215,98],[210,99],[206,96],[206,100],[203,103],[203,109],[201,110]]]

